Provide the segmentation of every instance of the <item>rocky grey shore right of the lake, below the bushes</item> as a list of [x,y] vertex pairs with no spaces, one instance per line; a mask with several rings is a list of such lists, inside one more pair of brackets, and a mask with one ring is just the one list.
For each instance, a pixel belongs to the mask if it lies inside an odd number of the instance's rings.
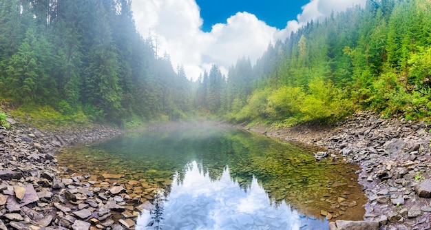
[[[358,182],[368,198],[364,220],[378,222],[379,229],[386,230],[431,229],[430,128],[423,122],[359,112],[334,125],[251,130],[324,147],[331,157],[359,164]],[[337,229],[335,223],[333,229]]]

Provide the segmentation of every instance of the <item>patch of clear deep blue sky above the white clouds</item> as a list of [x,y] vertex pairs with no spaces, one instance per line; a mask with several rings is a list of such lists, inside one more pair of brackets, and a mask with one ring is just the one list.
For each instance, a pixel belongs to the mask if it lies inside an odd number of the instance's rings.
[[200,16],[204,20],[202,30],[211,31],[215,23],[226,23],[226,19],[237,12],[249,12],[265,21],[267,25],[280,30],[286,27],[287,21],[295,20],[301,13],[301,7],[309,0],[196,0],[200,7]]

